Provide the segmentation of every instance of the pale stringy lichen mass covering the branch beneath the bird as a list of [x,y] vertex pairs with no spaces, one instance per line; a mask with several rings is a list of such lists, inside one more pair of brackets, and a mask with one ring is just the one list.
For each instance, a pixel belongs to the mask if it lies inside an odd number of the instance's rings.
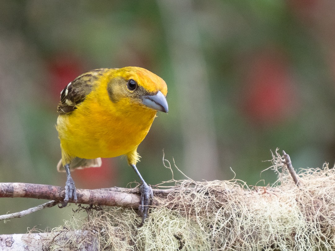
[[[176,181],[167,192],[157,191],[141,228],[132,209],[139,203],[137,190],[113,188],[134,196],[131,208],[122,202],[113,205],[123,207],[80,207],[87,212],[85,223],[78,225],[74,213],[64,226],[31,232],[28,240],[39,238],[42,248],[35,250],[335,250],[335,170],[324,165],[297,174],[285,153],[276,152],[272,162],[278,180],[265,188],[238,180]],[[55,191],[61,200],[64,189]],[[78,189],[80,203],[90,202],[85,191]],[[0,249],[20,242],[30,248],[26,240],[25,235],[0,236]]]

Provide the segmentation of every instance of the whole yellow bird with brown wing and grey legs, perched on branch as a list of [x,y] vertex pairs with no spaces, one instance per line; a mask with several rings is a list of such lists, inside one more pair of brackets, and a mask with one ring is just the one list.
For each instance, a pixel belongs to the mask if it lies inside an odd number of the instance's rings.
[[63,206],[77,201],[70,169],[100,166],[100,158],[126,155],[142,185],[139,211],[145,220],[152,190],[136,168],[137,147],[157,111],[168,111],[163,79],[140,67],[102,68],[86,72],[61,92],[57,131],[67,180]]

